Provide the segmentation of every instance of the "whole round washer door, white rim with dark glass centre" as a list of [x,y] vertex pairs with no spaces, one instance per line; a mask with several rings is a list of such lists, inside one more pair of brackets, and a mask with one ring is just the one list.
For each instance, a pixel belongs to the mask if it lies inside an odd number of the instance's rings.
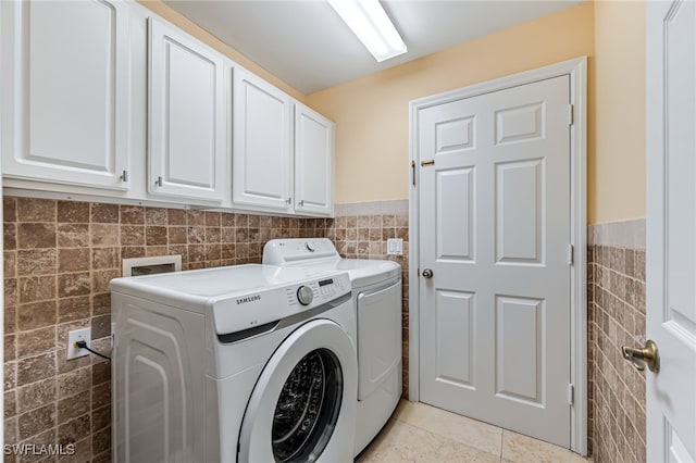
[[276,349],[251,393],[239,462],[352,461],[358,363],[340,326],[313,320]]

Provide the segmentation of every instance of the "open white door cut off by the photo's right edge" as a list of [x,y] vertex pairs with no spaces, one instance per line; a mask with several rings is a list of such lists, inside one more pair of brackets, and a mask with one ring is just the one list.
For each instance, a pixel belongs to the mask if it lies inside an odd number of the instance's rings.
[[[696,461],[696,3],[647,4],[649,462]],[[636,346],[642,347],[642,346]]]

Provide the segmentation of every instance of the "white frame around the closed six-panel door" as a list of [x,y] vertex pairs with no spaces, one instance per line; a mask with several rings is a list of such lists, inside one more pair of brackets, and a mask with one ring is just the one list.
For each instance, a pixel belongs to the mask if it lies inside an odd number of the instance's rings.
[[574,397],[571,406],[571,450],[587,454],[587,57],[496,78],[482,84],[434,95],[409,103],[409,400],[419,401],[420,376],[420,291],[419,291],[419,171],[418,114],[420,110],[518,87],[554,77],[570,76],[570,103],[573,124],[570,126],[571,155],[571,374]]

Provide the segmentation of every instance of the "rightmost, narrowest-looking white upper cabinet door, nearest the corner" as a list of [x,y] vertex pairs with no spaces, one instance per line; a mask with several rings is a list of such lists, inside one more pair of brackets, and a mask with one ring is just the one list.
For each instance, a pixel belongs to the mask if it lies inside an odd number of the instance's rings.
[[295,105],[295,211],[331,215],[334,210],[334,123]]

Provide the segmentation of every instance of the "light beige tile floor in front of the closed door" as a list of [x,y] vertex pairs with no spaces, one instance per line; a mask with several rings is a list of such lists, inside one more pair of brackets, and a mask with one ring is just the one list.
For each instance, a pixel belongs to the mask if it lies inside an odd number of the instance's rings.
[[570,450],[424,403],[399,403],[358,463],[587,463]]

